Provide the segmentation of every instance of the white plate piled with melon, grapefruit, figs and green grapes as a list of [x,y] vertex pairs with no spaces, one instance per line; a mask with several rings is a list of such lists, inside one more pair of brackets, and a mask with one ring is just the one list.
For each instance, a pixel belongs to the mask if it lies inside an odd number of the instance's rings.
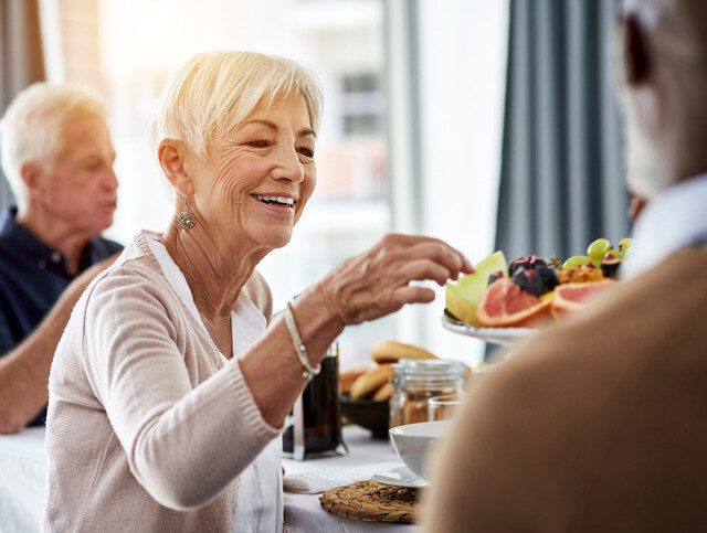
[[455,333],[511,344],[615,288],[630,247],[630,238],[615,248],[598,238],[587,255],[564,263],[535,255],[507,263],[504,253],[496,252],[476,264],[473,274],[446,285],[442,323]]

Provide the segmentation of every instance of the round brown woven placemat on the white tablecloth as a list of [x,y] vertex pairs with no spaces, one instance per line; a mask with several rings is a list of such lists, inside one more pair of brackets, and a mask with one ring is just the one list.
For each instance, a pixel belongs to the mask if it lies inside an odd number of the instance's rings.
[[416,497],[418,489],[389,487],[378,481],[358,481],[325,492],[319,497],[319,503],[337,516],[412,524],[420,510]]

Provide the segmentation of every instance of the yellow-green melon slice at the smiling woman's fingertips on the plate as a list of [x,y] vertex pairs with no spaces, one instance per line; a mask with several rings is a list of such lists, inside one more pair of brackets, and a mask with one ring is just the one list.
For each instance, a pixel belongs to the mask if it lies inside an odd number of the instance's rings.
[[456,285],[446,284],[446,310],[460,320],[481,326],[476,319],[476,305],[488,285],[488,276],[503,271],[508,276],[504,253],[498,250],[474,265],[474,271],[462,276]]

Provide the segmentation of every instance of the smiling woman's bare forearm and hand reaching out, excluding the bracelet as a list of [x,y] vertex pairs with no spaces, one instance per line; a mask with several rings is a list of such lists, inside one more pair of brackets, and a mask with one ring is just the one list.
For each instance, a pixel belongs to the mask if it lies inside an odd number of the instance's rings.
[[[346,326],[395,312],[405,303],[430,302],[434,290],[411,285],[432,279],[444,285],[472,264],[436,238],[386,235],[368,252],[351,257],[292,302],[292,312],[309,363],[318,365]],[[239,359],[243,376],[273,427],[279,427],[306,385],[284,319],[275,320]]]

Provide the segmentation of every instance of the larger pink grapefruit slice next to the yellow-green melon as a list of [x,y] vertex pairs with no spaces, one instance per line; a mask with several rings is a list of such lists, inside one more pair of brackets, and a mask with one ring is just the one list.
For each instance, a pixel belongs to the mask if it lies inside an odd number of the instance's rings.
[[516,328],[545,320],[551,307],[551,297],[538,298],[502,278],[490,284],[482,295],[476,318],[486,328]]

